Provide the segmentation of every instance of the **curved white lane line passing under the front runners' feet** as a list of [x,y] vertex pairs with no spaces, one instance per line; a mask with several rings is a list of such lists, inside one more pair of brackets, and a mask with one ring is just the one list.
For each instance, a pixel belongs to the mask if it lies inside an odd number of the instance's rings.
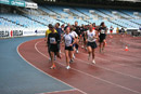
[[[46,54],[41,53],[41,52],[37,49],[37,44],[38,44],[39,42],[41,42],[41,41],[38,41],[38,42],[35,44],[35,49],[36,49],[37,52],[40,53],[42,56],[49,58]],[[64,64],[62,64],[62,63],[60,63],[60,62],[57,62],[57,61],[56,61],[56,63],[60,64],[60,65],[62,65],[62,66],[65,66]],[[88,76],[88,77],[91,77],[91,78],[94,78],[94,79],[101,80],[101,81],[103,81],[103,82],[105,82],[105,83],[108,83],[108,84],[115,85],[115,86],[117,86],[117,88],[120,88],[120,89],[124,89],[124,90],[130,91],[130,92],[132,92],[132,93],[141,94],[141,93],[138,92],[138,91],[134,91],[134,90],[128,89],[128,88],[126,88],[126,86],[123,86],[123,85],[119,85],[119,84],[113,83],[113,82],[111,82],[111,81],[107,81],[107,80],[104,80],[104,79],[98,78],[98,77],[95,77],[95,76],[89,75],[89,73],[84,72],[84,71],[80,71],[80,70],[78,70],[78,69],[75,69],[75,68],[70,68],[70,69],[73,69],[73,70],[75,70],[75,71],[78,71],[78,72],[80,72],[80,73],[84,73],[84,75],[86,75],[86,76]]]

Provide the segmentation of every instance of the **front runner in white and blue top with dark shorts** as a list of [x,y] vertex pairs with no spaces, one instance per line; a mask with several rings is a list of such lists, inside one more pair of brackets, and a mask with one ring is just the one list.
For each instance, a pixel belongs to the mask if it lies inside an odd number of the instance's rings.
[[[73,45],[75,44],[75,38],[69,33],[70,28],[66,26],[64,28],[66,33],[64,35],[64,42],[65,42],[65,56],[66,56],[66,69],[69,69],[69,62],[73,59]],[[70,61],[69,61],[70,59]]]

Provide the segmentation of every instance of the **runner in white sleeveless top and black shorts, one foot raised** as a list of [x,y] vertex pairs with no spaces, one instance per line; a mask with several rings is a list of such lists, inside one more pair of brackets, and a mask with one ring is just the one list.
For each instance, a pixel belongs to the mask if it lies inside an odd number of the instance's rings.
[[93,30],[92,25],[89,25],[89,30],[86,32],[86,41],[87,41],[87,50],[88,50],[88,59],[90,59],[90,55],[92,54],[92,63],[95,64],[94,61],[94,52],[97,48],[95,40],[98,39],[98,31]]

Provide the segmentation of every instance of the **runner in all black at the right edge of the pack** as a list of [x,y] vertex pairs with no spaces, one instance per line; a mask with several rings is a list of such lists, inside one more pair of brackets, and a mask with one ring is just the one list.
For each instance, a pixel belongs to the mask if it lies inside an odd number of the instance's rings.
[[[104,51],[105,43],[106,43],[105,38],[106,38],[107,28],[106,28],[104,22],[101,23],[99,32],[100,32],[99,38],[100,38],[100,53],[101,53],[102,51]],[[102,44],[103,44],[103,46],[102,46]]]

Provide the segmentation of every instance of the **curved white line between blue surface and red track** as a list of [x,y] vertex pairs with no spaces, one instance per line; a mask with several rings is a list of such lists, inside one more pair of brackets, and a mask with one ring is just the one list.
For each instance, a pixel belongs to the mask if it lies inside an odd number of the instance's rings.
[[[30,40],[30,41],[33,41],[33,40]],[[27,41],[27,42],[29,42],[29,41]],[[26,42],[24,42],[24,43],[26,43]],[[16,51],[17,51],[18,55],[20,55],[27,64],[29,64],[30,66],[33,66],[33,67],[36,68],[37,70],[43,72],[44,75],[47,75],[47,76],[53,78],[54,80],[57,80],[57,81],[60,81],[60,82],[62,82],[62,83],[64,83],[64,84],[70,86],[70,88],[74,88],[75,90],[81,92],[82,94],[87,94],[86,92],[84,92],[84,91],[81,91],[81,90],[79,90],[79,89],[77,89],[77,88],[75,88],[75,86],[73,86],[73,85],[70,85],[70,84],[68,84],[68,83],[63,82],[62,80],[52,77],[51,75],[44,72],[43,70],[41,70],[41,69],[39,69],[38,67],[36,67],[35,65],[33,65],[30,62],[26,61],[26,58],[24,58],[24,57],[21,55],[20,51],[18,51],[18,48],[20,48],[22,44],[24,44],[24,43],[21,43],[21,44],[16,48]],[[47,56],[46,56],[46,57],[47,57]],[[47,57],[47,58],[49,58],[49,57]]]

